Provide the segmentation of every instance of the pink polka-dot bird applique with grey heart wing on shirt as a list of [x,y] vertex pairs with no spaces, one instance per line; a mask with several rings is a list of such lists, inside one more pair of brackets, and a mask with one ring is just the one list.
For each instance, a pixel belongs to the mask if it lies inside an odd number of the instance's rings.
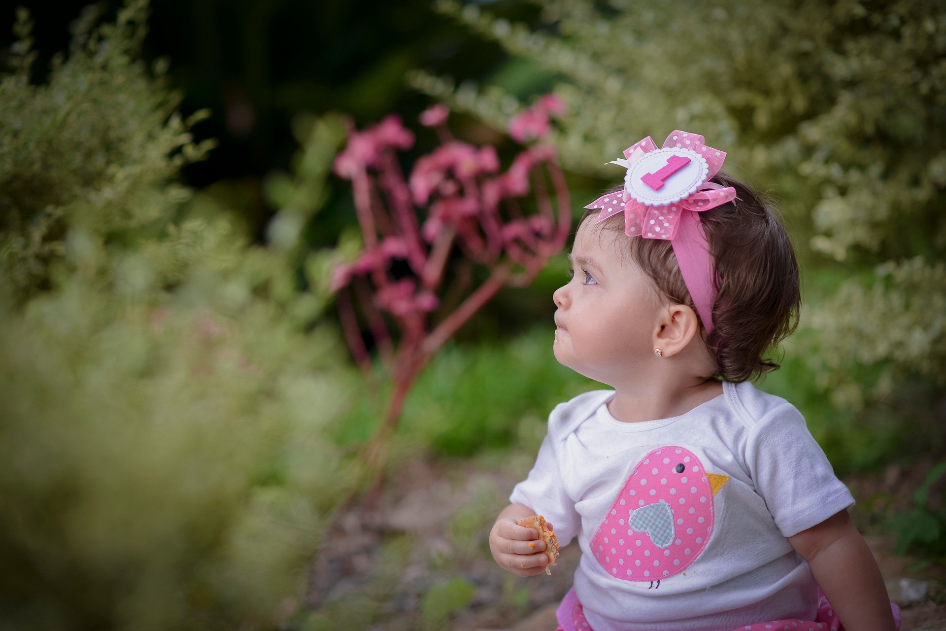
[[624,483],[591,538],[591,551],[611,576],[660,587],[706,549],[713,496],[727,480],[706,471],[688,449],[654,449]]

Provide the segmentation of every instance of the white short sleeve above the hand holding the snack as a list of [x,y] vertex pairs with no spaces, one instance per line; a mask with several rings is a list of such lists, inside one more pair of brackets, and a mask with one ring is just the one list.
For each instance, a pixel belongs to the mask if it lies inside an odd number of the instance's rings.
[[581,519],[575,511],[575,502],[562,485],[556,451],[552,435],[546,434],[529,477],[513,488],[509,501],[525,504],[536,515],[551,521],[558,545],[564,548],[578,535]]

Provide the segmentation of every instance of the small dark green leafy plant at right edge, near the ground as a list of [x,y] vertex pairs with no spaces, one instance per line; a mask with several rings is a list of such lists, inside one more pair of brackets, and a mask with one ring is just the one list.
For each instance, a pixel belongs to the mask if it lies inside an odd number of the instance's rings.
[[913,494],[908,512],[891,515],[887,527],[897,535],[897,553],[913,552],[926,558],[946,558],[946,511],[931,505],[930,487],[946,474],[946,462],[930,469],[920,488]]

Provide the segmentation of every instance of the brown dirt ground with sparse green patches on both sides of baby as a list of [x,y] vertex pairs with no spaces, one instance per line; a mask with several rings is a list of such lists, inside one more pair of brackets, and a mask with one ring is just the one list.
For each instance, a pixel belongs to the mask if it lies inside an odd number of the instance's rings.
[[[318,612],[312,620],[319,622],[309,626],[554,631],[555,606],[570,587],[579,551],[563,549],[552,576],[519,578],[499,569],[487,537],[516,482],[503,470],[510,467],[417,459],[385,482],[372,505],[342,514],[309,571],[305,607]],[[862,498],[884,485],[896,495],[916,477],[888,470],[845,482]],[[877,510],[876,502],[870,508]],[[918,559],[893,552],[892,537],[878,534],[870,515],[852,515],[867,532],[891,600],[902,607],[902,631],[946,631],[946,611],[937,604],[946,603],[943,568],[919,570]]]

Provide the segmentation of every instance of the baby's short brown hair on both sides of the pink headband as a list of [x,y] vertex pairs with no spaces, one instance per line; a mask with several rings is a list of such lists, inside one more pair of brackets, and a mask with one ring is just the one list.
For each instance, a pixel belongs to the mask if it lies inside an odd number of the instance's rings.
[[[801,304],[798,264],[774,206],[725,173],[717,173],[710,182],[734,187],[736,199],[699,214],[717,277],[713,331],[707,336],[701,322],[700,334],[713,349],[718,377],[755,380],[779,369],[779,364],[762,355],[797,327]],[[588,211],[579,225],[598,212]],[[605,219],[601,227],[623,233],[623,213]],[[657,291],[695,313],[670,242],[643,237],[625,242],[626,254],[651,278]],[[699,320],[698,313],[696,318]]]

